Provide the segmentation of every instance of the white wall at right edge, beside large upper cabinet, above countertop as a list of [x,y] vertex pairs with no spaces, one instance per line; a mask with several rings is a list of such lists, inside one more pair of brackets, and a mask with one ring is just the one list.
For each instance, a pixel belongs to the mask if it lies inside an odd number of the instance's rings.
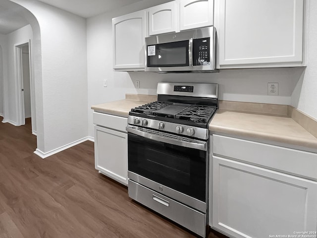
[[307,68],[292,95],[292,106],[317,119],[317,1],[309,0]]

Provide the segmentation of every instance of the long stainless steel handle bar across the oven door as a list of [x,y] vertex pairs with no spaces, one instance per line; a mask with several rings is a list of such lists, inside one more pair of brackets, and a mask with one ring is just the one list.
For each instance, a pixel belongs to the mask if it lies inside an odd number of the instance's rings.
[[144,131],[140,131],[140,130],[131,128],[129,126],[126,127],[126,130],[132,134],[140,135],[142,137],[146,137],[146,138],[149,138],[151,140],[156,140],[159,142],[164,142],[164,143],[169,143],[169,144],[173,144],[173,145],[179,145],[179,146],[183,146],[183,147],[207,151],[207,142],[205,142],[205,141],[199,141],[199,140],[194,140],[194,139],[192,139],[192,141],[190,141],[190,142],[183,141],[183,140],[176,140],[176,139],[162,137],[159,135],[150,134],[150,133],[147,133]]

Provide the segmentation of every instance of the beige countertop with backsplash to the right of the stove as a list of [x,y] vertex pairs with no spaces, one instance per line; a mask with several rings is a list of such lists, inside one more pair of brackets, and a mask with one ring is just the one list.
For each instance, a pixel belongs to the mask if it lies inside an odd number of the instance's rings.
[[[233,103],[234,106],[237,106],[236,108],[242,110],[239,105],[235,104],[236,102]],[[248,109],[243,109],[242,111],[231,110],[232,108],[227,107],[227,105],[223,105],[224,107],[221,109],[221,106],[220,104],[220,109],[209,124],[211,132],[317,149],[317,138],[314,136],[317,132],[316,120],[307,119],[304,114],[300,115],[302,120],[309,120],[309,123],[304,125],[306,128],[304,128],[297,122],[299,120],[293,117],[294,114],[298,117],[299,112],[293,112],[295,109],[290,106],[273,105],[275,107],[274,110],[276,110],[274,112],[271,111],[272,108],[263,110],[263,104],[253,104],[253,106],[258,107],[257,109],[248,107],[251,112]]]

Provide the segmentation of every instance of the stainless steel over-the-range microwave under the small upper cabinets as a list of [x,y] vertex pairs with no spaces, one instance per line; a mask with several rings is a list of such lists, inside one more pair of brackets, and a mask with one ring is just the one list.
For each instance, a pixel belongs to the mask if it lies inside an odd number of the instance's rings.
[[145,71],[218,72],[215,34],[214,27],[206,27],[145,38]]

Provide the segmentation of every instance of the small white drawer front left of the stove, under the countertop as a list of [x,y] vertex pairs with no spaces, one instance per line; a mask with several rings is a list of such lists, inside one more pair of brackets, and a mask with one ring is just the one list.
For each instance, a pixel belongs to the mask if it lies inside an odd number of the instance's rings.
[[96,125],[101,125],[115,130],[126,131],[125,127],[128,124],[127,118],[117,117],[104,113],[93,113],[93,122]]

